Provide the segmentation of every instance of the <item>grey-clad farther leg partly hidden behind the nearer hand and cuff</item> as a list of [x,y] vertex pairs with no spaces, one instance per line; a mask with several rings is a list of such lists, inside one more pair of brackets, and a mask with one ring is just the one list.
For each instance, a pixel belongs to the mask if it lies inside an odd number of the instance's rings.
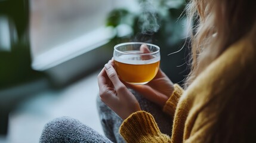
[[[152,114],[155,118],[156,123],[158,123],[159,129],[162,133],[171,136],[172,131],[172,119],[162,112],[162,108],[158,105],[150,102],[146,98],[143,98],[140,94],[130,89],[132,94],[137,98],[140,103],[141,110],[147,111]],[[104,102],[102,102],[97,97],[97,108],[100,117],[100,122],[104,130],[104,134],[112,142],[125,142],[122,136],[119,134],[119,127],[121,126],[123,120],[109,107],[107,107]]]

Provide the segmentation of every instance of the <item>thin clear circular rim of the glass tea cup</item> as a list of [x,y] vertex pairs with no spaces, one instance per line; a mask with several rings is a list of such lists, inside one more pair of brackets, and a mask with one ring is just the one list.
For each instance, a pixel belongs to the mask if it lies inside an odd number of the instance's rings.
[[[119,51],[118,49],[116,49],[116,48],[118,48],[118,46],[132,45],[132,44],[141,44],[141,45],[142,45],[143,43],[146,44],[146,45],[154,46],[154,47],[155,47],[156,49],[158,49],[158,50],[155,51],[155,52],[138,54],[138,53],[123,52],[123,51]],[[120,53],[122,53],[122,54],[127,54],[127,55],[152,55],[152,54],[156,54],[157,52],[160,51],[160,48],[159,48],[158,45],[155,45],[155,44],[152,44],[152,43],[145,43],[145,42],[125,42],[125,43],[119,43],[118,45],[115,45],[115,46],[114,46],[114,49],[115,49],[115,51],[117,51],[117,52],[120,52]]]

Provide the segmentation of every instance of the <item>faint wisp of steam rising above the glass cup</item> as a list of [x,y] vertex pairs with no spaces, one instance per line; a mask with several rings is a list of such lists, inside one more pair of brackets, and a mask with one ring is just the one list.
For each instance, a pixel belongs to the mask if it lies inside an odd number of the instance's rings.
[[141,11],[143,13],[138,19],[138,24],[143,35],[153,35],[158,32],[159,24],[156,16],[156,10],[149,0],[140,2]]

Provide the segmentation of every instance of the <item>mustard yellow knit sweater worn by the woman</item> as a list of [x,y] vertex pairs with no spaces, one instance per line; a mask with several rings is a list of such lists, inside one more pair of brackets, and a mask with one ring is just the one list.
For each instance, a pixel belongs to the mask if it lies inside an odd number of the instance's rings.
[[[150,113],[137,111],[124,120],[119,129],[125,141],[206,142],[220,114],[223,98],[231,97],[239,88],[229,86],[241,82],[236,79],[242,79],[245,74],[244,78],[255,78],[256,49],[251,43],[242,39],[227,48],[186,91],[174,85],[175,91],[163,108],[164,113],[174,116],[171,137],[160,132]],[[253,71],[248,72],[248,67]]]

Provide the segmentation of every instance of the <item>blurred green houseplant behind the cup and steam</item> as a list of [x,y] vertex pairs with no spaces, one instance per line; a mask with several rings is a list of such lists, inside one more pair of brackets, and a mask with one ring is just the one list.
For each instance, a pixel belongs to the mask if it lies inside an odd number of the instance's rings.
[[[161,69],[172,82],[183,83],[184,76],[188,72],[186,64],[188,50],[185,44],[186,15],[183,13],[186,7],[185,1],[138,0],[138,4],[140,10],[137,12],[119,8],[109,13],[106,25],[116,30],[116,35],[109,45],[110,50],[121,42],[155,43],[161,48]],[[171,54],[173,52],[175,54]]]

